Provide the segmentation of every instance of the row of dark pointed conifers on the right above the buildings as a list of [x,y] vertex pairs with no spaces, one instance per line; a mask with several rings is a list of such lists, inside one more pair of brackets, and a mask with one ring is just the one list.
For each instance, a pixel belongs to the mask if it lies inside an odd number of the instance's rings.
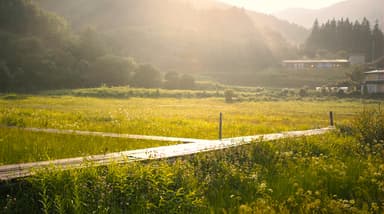
[[355,22],[348,18],[332,19],[321,25],[315,20],[305,50],[309,55],[321,51],[358,53],[364,54],[367,61],[373,61],[384,55],[384,35],[378,22],[371,27],[366,18]]

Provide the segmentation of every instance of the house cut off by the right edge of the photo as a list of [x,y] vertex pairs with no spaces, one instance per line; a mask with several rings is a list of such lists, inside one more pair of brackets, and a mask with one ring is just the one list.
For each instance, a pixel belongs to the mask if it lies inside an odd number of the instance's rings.
[[363,94],[384,94],[384,70],[365,72],[364,84],[361,86]]

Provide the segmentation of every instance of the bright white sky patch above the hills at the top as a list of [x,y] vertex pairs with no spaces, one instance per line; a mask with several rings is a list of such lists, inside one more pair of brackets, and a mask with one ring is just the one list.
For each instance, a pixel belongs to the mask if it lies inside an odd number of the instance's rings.
[[287,8],[318,9],[343,0],[219,0],[246,9],[273,13]]

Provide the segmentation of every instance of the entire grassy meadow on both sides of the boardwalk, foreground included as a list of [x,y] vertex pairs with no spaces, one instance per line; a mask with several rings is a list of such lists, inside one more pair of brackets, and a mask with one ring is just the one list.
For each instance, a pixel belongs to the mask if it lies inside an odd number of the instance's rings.
[[[384,113],[377,101],[13,98],[0,99],[1,164],[170,144],[6,126],[216,139],[219,112],[224,137],[234,137],[325,127],[334,111],[340,130],[171,161],[43,170],[0,183],[0,213],[384,212]],[[364,109],[379,110],[357,114]]]

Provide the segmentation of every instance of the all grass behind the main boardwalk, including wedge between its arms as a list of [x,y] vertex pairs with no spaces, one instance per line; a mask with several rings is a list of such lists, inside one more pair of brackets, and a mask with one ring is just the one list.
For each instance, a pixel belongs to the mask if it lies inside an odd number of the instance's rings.
[[[223,98],[102,99],[17,96],[0,99],[3,126],[216,139],[219,112],[223,137],[236,137],[346,123],[364,107],[360,101],[261,101],[226,103]],[[0,128],[0,163],[49,160],[168,145],[167,142],[29,133]]]

